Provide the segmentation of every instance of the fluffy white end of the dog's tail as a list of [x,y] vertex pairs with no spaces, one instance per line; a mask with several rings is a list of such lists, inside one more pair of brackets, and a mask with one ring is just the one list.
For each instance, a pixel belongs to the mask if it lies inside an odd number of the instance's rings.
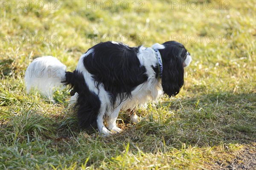
[[43,95],[52,100],[52,94],[61,86],[67,85],[66,66],[52,56],[34,59],[26,69],[26,91],[29,93],[36,88]]

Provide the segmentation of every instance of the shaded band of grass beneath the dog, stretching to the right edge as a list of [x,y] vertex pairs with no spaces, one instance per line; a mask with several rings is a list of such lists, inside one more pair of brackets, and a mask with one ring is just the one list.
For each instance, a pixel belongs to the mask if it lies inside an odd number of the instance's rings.
[[[124,131],[109,137],[99,136],[99,139],[107,143],[131,142],[142,145],[145,152],[163,149],[163,143],[168,147],[181,148],[183,144],[216,146],[220,143],[256,142],[255,95],[224,92],[168,99],[157,107],[149,105],[141,115],[139,113],[142,120],[136,125],[129,123],[126,116],[120,114],[125,124],[118,121],[118,126]],[[4,129],[8,129],[13,140],[19,136],[24,140],[32,140],[41,135],[46,140],[58,141],[76,138],[81,133],[87,138],[99,135],[94,129],[81,130],[73,109],[64,109],[62,112],[59,115],[38,115],[28,111],[12,117],[5,123]]]

